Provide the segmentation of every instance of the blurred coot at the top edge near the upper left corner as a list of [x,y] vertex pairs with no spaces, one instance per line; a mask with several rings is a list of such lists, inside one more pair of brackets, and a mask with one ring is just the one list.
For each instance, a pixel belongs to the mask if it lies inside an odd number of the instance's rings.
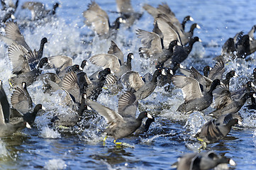
[[31,20],[38,20],[41,18],[45,18],[46,16],[55,15],[56,8],[59,7],[59,3],[55,3],[52,6],[51,10],[45,9],[45,4],[35,1],[26,1],[22,4],[21,8],[28,8],[31,12]]

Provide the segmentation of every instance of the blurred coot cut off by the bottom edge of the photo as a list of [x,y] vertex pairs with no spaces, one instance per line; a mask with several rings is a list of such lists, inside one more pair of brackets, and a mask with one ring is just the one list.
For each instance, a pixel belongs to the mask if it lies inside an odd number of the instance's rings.
[[180,157],[177,162],[177,170],[208,170],[218,166],[218,164],[230,164],[235,166],[233,159],[222,157],[213,151],[201,153],[189,153]]

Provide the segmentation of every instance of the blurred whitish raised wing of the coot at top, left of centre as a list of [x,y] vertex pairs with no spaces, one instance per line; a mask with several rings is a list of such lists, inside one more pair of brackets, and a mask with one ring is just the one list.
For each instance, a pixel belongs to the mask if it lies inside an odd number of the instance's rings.
[[109,31],[109,19],[108,14],[92,1],[89,4],[87,11],[83,13],[84,18],[86,18],[85,24],[87,26],[93,26],[94,31],[99,35],[104,35]]

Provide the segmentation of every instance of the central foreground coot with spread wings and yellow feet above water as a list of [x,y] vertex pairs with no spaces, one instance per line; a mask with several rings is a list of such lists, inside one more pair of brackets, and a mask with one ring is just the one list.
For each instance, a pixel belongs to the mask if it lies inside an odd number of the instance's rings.
[[108,128],[106,128],[104,132],[106,132],[107,135],[112,136],[115,139],[114,143],[117,145],[121,145],[122,143],[116,142],[116,140],[127,137],[140,128],[143,118],[152,118],[146,111],[140,113],[138,118],[135,118],[138,101],[136,100],[135,95],[131,92],[123,94],[119,99],[118,113],[95,101],[88,100],[86,103],[106,118]]

